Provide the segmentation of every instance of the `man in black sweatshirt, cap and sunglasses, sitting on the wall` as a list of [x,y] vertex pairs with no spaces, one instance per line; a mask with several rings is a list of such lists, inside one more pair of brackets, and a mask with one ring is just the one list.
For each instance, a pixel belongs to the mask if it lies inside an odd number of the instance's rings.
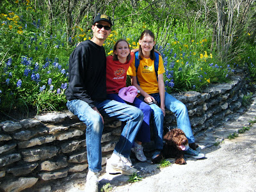
[[126,122],[106,165],[106,172],[132,175],[137,172],[129,158],[132,143],[143,121],[140,109],[106,99],[106,54],[104,41],[111,33],[111,19],[98,14],[93,19],[93,38],[77,45],[70,54],[67,108],[86,124],[88,174],[86,191],[98,191],[99,172],[102,170],[100,140],[104,127],[103,116]]

